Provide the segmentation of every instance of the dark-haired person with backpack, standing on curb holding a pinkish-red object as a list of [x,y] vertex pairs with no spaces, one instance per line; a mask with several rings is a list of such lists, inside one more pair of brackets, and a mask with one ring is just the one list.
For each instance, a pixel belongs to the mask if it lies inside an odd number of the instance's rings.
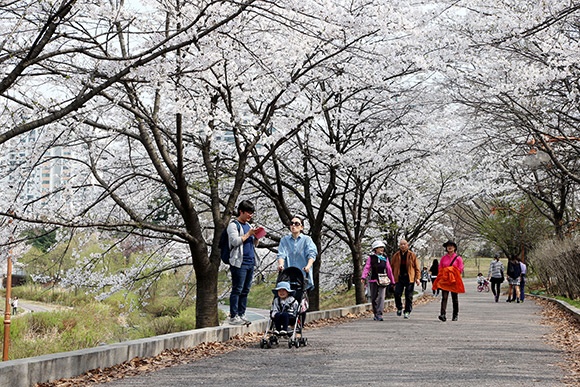
[[238,204],[238,217],[230,222],[227,228],[230,248],[230,272],[232,274],[232,291],[230,293],[230,324],[249,324],[246,319],[248,294],[254,279],[256,254],[254,247],[258,239],[254,236],[256,229],[250,225],[255,207],[249,200]]

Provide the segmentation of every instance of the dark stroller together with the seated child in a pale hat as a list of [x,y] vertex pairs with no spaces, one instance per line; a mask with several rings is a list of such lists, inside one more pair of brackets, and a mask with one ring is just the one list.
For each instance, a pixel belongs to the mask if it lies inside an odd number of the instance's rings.
[[[308,310],[308,297],[304,285],[304,275],[297,267],[288,267],[278,274],[276,288],[272,290],[274,300],[260,348],[271,348],[272,345],[278,344],[280,337],[285,336],[288,336],[288,348],[293,346],[298,348],[307,344],[307,339],[302,336]],[[291,325],[293,327],[289,331]]]

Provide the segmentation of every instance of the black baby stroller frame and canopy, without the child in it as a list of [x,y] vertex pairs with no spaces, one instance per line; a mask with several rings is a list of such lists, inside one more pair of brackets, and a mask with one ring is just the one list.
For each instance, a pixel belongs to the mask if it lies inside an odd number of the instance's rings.
[[[302,270],[297,267],[289,267],[282,270],[278,274],[276,283],[279,282],[289,282],[290,288],[294,290],[294,298],[298,301],[298,312],[296,314],[296,321],[293,322],[292,330],[288,331],[288,348],[292,347],[302,347],[308,344],[308,339],[302,335],[302,329],[304,328],[304,321],[306,319],[306,311],[308,310],[308,295],[306,294],[306,281],[304,280],[304,275]],[[272,308],[274,307],[274,302],[276,298],[272,300]],[[292,321],[291,321],[292,323]],[[278,345],[280,334],[276,334],[274,331],[274,320],[272,319],[272,313],[268,313],[268,323],[266,324],[266,331],[262,340],[260,340],[260,348],[272,348],[273,345]]]

